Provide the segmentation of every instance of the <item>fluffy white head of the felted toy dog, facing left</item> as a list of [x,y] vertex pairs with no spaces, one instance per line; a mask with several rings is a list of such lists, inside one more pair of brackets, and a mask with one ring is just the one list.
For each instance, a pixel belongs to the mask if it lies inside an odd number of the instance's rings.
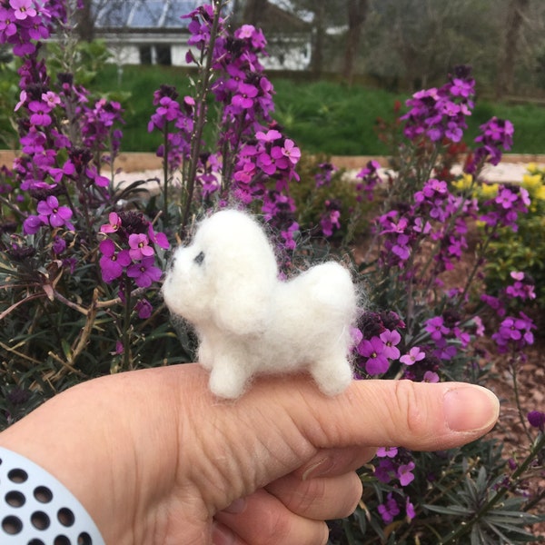
[[263,228],[249,214],[214,213],[166,273],[167,306],[195,325],[212,321],[236,334],[263,332],[278,268]]

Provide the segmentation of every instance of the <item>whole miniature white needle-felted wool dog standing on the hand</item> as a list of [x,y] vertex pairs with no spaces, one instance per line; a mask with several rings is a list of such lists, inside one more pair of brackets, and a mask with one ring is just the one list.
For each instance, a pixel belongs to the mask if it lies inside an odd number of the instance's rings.
[[328,395],[352,381],[350,272],[322,263],[282,282],[271,243],[247,213],[203,220],[193,242],[175,251],[163,297],[193,323],[199,362],[219,397],[239,397],[256,373],[305,370]]

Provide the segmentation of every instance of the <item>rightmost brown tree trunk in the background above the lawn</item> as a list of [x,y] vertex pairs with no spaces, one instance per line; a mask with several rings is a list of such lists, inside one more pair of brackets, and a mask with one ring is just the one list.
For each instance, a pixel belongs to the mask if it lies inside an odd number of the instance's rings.
[[530,7],[530,0],[510,0],[505,23],[505,39],[500,54],[496,98],[513,92],[515,63],[519,54],[520,31]]

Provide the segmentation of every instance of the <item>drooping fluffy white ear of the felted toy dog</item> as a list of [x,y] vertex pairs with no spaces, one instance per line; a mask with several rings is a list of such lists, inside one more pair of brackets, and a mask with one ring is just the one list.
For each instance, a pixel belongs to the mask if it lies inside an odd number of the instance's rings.
[[278,266],[261,226],[245,214],[235,220],[229,225],[230,242],[221,249],[221,263],[213,263],[213,314],[224,331],[259,334],[269,324]]

